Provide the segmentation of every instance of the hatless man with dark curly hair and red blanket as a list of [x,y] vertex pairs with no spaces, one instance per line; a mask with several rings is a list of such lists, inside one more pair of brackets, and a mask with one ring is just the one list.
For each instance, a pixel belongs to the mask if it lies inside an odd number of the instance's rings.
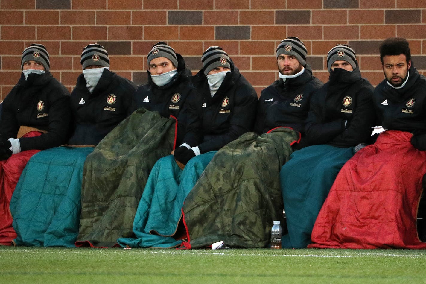
[[426,173],[426,78],[404,38],[383,41],[380,61],[386,78],[373,101],[386,131],[343,166],[308,247],[426,249],[416,229]]

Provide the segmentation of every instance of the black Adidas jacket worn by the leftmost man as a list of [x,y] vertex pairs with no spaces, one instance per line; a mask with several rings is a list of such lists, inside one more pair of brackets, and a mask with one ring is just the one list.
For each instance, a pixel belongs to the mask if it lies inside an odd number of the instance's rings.
[[21,151],[44,150],[66,143],[70,125],[69,92],[50,72],[23,73],[3,101],[0,135],[16,138],[20,126],[46,130],[37,137],[20,138]]

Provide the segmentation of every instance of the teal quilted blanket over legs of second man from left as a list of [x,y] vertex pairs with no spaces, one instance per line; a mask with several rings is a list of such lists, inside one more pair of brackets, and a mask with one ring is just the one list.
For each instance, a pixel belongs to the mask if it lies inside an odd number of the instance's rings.
[[58,147],[28,161],[10,211],[17,246],[75,246],[81,212],[83,165],[93,147]]

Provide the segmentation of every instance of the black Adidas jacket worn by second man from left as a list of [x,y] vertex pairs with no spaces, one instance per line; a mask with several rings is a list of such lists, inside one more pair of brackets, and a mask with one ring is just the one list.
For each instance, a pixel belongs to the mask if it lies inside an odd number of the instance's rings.
[[136,110],[136,85],[104,69],[92,93],[83,74],[71,93],[74,133],[71,145],[97,145],[115,126]]

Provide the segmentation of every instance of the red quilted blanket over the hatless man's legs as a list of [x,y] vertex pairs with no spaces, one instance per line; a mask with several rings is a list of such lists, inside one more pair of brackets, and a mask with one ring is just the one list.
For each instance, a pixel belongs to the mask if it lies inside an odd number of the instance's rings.
[[415,149],[411,137],[387,130],[346,162],[308,247],[426,249],[416,228],[426,151]]

